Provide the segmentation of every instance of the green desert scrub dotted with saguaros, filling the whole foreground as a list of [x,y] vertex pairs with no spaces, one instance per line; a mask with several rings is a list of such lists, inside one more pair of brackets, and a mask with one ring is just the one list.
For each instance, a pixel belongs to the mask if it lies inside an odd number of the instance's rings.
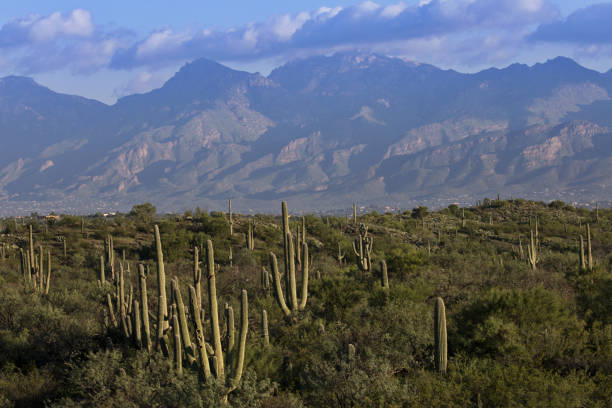
[[228,210],[2,219],[0,407],[609,406],[612,210]]

